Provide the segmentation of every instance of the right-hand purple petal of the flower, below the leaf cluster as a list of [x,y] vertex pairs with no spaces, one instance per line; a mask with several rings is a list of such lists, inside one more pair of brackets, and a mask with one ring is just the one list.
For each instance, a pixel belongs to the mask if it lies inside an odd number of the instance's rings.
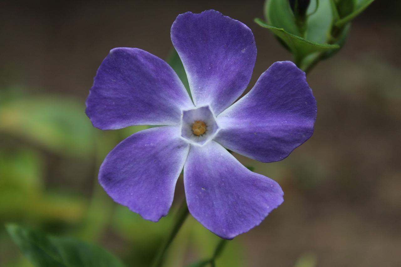
[[276,62],[217,119],[216,142],[249,158],[275,162],[312,136],[316,100],[303,71],[290,61]]

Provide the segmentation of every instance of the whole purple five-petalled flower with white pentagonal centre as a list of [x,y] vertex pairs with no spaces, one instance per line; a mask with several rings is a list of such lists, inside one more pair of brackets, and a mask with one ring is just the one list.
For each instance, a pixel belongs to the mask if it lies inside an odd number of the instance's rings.
[[86,101],[95,127],[166,126],[118,144],[101,165],[99,182],[115,202],[156,222],[168,213],[184,168],[192,216],[233,239],[277,208],[283,191],[225,148],[261,162],[286,158],[312,135],[316,101],[305,73],[283,61],[233,104],[251,79],[255,39],[245,24],[215,10],[179,15],[171,40],[193,103],[173,69],[146,51],[116,48],[101,63]]

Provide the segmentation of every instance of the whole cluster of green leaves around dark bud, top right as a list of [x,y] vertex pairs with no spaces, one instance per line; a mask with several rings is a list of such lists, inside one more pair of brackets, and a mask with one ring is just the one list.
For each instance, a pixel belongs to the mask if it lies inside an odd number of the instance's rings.
[[311,0],[306,14],[293,12],[288,0],[266,0],[268,28],[294,56],[294,63],[309,71],[318,61],[333,56],[344,45],[350,21],[374,0]]

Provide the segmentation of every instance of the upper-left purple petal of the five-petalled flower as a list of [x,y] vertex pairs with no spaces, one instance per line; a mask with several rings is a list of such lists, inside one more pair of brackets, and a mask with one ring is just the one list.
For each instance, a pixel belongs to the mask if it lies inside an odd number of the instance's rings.
[[103,60],[86,100],[93,126],[174,125],[193,107],[184,85],[162,59],[137,48],[115,48]]

